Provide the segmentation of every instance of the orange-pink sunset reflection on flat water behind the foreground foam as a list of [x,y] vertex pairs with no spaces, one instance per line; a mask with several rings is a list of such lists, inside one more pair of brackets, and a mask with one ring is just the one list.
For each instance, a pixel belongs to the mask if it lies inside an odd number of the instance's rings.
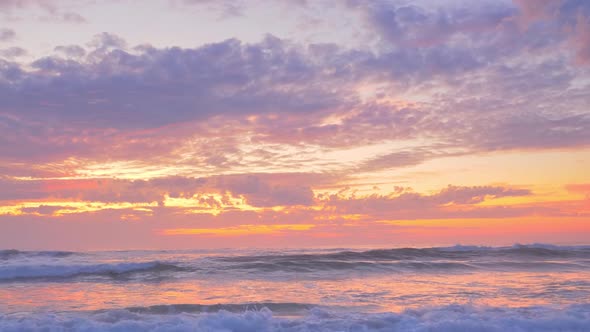
[[590,298],[589,272],[364,275],[338,280],[10,283],[0,312],[100,310],[165,304],[306,303],[402,311],[452,303],[494,307],[568,305]]

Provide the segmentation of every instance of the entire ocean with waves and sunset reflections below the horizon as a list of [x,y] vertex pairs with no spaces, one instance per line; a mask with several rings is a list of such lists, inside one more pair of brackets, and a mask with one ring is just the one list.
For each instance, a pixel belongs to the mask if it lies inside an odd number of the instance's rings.
[[590,246],[0,250],[0,331],[590,331]]

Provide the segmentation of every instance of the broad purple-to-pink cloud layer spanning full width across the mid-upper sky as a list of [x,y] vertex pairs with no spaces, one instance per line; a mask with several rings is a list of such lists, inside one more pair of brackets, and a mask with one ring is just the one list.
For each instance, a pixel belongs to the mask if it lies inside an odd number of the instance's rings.
[[[387,101],[393,97],[389,95],[362,102],[355,91],[356,80],[390,84],[394,77],[403,79],[403,72],[390,73],[396,66],[407,75],[426,75],[420,72],[423,69],[411,69],[421,68],[419,64],[401,69],[404,63],[390,59],[390,53],[377,60],[376,54],[305,49],[270,37],[257,44],[229,40],[195,49],[147,48],[128,53],[116,48],[125,44],[117,36],[100,35],[87,57],[80,46],[57,47],[66,57],[38,59],[33,62],[35,72],[24,71],[14,62],[4,63],[0,109],[5,114],[19,111],[0,116],[3,156],[18,161],[31,156],[59,160],[108,150],[115,159],[159,156],[173,160],[176,156],[169,154],[174,146],[191,141],[207,146],[199,164],[232,168],[241,165],[242,135],[252,135],[252,143],[294,146],[304,142],[354,147],[421,138],[433,142],[403,158],[381,157],[382,164],[395,166],[411,158],[414,164],[437,158],[441,156],[438,145],[473,152],[588,142],[585,133],[590,132],[590,123],[581,112],[590,96],[583,87],[571,87],[581,73],[576,75],[564,62],[477,69],[477,80],[463,73],[463,81],[454,87],[464,97],[443,94],[435,103],[399,106]],[[412,78],[407,84],[420,89],[422,83]],[[22,95],[31,97],[23,100]],[[510,103],[512,98],[519,98],[520,104]],[[331,117],[339,120],[322,124]],[[224,128],[222,133],[208,128],[213,119],[231,130]],[[144,130],[150,134],[136,134]],[[216,139],[216,135],[222,137]],[[141,155],[148,146],[150,156]]]

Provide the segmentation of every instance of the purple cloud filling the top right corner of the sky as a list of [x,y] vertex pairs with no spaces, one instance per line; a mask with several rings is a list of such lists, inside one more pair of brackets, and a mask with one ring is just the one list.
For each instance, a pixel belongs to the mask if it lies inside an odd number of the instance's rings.
[[440,2],[429,6],[419,2],[349,1],[348,6],[359,12],[367,26],[391,48],[428,50],[446,46],[447,52],[457,54],[447,65],[461,63],[461,49],[472,51],[463,52],[463,61],[481,67],[525,50],[550,53],[557,45],[564,51],[568,41],[568,46],[576,49],[574,61],[583,64],[589,44],[585,18],[590,6],[586,1]]

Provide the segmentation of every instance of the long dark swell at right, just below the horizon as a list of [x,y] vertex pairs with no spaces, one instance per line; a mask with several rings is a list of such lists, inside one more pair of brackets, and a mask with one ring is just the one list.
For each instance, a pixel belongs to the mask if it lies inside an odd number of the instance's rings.
[[228,268],[248,271],[313,272],[330,270],[461,272],[476,269],[590,269],[590,247],[514,245],[454,246],[218,257]]

